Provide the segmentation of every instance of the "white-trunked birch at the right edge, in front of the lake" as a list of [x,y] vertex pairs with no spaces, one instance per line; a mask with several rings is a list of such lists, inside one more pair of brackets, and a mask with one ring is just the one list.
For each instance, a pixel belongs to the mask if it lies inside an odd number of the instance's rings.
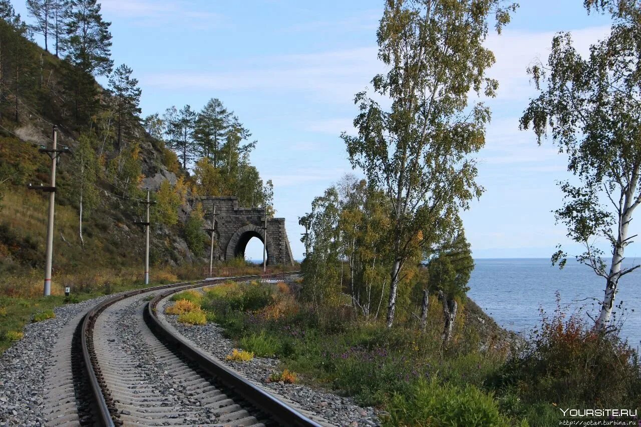
[[[605,281],[595,329],[608,326],[619,282],[639,267],[623,267],[632,214],[641,203],[641,6],[633,0],[585,0],[588,12],[610,13],[610,35],[590,46],[586,57],[576,51],[570,33],[552,40],[547,64],[528,72],[540,95],[532,99],[520,127],[547,137],[568,158],[576,180],[560,183],[564,194],[556,219],[567,236],[583,244],[576,259]],[[604,239],[612,260],[595,241]],[[553,255],[563,267],[567,253]],[[609,264],[609,265],[608,265]]]

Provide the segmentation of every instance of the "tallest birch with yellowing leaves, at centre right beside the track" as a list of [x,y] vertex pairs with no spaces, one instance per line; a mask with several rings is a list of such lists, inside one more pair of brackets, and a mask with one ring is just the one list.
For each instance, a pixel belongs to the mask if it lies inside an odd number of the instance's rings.
[[495,61],[483,47],[489,16],[495,13],[500,33],[516,7],[501,0],[386,2],[377,35],[378,57],[389,71],[372,86],[391,107],[356,94],[358,136],[342,137],[353,167],[385,190],[394,212],[388,327],[413,242],[424,249],[442,240],[458,226],[456,212],[481,195],[469,155],[485,144],[490,110],[470,107],[468,94],[495,96],[498,83],[485,76]]

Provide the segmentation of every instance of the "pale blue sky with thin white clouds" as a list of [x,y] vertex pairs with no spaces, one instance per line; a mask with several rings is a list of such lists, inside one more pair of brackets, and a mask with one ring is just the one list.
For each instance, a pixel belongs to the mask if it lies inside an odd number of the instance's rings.
[[[562,205],[556,181],[569,177],[550,141],[519,131],[535,96],[526,69],[545,60],[556,31],[571,31],[579,51],[608,33],[610,21],[588,15],[583,0],[522,0],[501,35],[486,46],[499,80],[478,153],[479,201],[462,214],[475,258],[549,258],[569,244],[551,212]],[[142,88],[143,115],[218,97],[258,140],[251,156],[274,182],[277,217],[285,217],[294,258],[303,257],[298,217],[313,197],[353,171],[340,133],[354,133],[356,92],[384,71],[376,57],[383,0],[103,0],[111,21],[115,66],[126,63]],[[14,1],[26,17],[23,4]],[[474,101],[474,99],[470,99]],[[634,231],[634,230],[632,230]],[[567,246],[570,253],[579,247]],[[629,247],[629,255],[638,251]],[[247,248],[262,258],[262,245]]]

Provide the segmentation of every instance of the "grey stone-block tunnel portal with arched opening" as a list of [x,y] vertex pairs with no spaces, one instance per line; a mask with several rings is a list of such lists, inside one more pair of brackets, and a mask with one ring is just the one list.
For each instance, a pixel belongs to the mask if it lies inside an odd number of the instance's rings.
[[[265,242],[265,211],[263,208],[239,208],[238,197],[202,197],[203,208],[212,212],[216,207],[214,233],[217,248],[214,256],[230,260],[245,253],[247,242],[257,237]],[[267,264],[294,264],[285,218],[267,218]]]

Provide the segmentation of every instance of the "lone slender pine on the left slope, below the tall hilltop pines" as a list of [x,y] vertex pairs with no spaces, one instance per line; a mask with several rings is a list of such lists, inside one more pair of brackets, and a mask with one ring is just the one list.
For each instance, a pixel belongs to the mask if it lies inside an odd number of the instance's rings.
[[113,96],[117,146],[122,145],[122,136],[129,131],[133,122],[140,122],[140,95],[138,80],[131,78],[133,70],[122,64],[109,78],[109,91]]

